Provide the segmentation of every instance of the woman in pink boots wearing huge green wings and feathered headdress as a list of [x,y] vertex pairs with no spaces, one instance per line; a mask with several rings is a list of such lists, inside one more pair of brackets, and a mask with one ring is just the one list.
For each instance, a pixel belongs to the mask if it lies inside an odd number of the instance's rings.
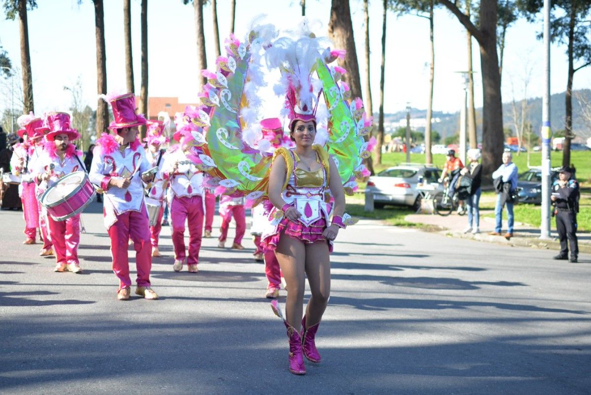
[[[371,131],[371,118],[363,112],[361,100],[349,104],[349,88],[339,83],[345,70],[329,66],[342,51],[322,47],[307,20],[295,39],[276,39],[272,25],[255,26],[247,37],[242,43],[231,35],[226,41],[228,55],[217,59],[217,72],[204,72],[208,84],[201,100],[209,109],[191,121],[205,131],[199,158],[223,194],[245,196],[256,205],[267,200],[268,191],[273,229],[263,239],[276,248],[287,282],[285,318],[276,300],[271,306],[287,328],[290,371],[305,374],[304,355],[320,361],[314,338],[330,292],[329,251],[339,229],[355,223],[343,213],[343,189],[353,193],[356,177],[367,174],[361,161],[370,155],[363,135]],[[272,156],[261,146],[256,122],[264,52],[269,69],[280,69],[275,93],[287,96],[285,115],[296,144],[294,150],[278,148]],[[315,111],[320,96],[327,119]],[[325,203],[329,192],[335,201],[332,221]],[[302,318],[306,274],[312,296]]]

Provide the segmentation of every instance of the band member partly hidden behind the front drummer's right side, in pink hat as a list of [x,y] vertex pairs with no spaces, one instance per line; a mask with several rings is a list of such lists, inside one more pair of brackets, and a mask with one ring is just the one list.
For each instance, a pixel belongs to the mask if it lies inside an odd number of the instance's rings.
[[164,166],[165,150],[161,148],[163,144],[168,143],[168,138],[164,135],[164,122],[162,121],[147,121],[148,130],[144,141],[148,144],[146,148],[146,157],[151,167],[157,167],[158,173],[154,181],[146,184],[147,198],[154,199],[152,201],[158,202],[158,216],[155,225],[150,225],[150,239],[152,242],[152,257],[160,257],[158,251],[158,237],[162,230],[162,216],[164,214],[164,202],[166,198],[166,186],[168,184],[167,174],[160,170]]

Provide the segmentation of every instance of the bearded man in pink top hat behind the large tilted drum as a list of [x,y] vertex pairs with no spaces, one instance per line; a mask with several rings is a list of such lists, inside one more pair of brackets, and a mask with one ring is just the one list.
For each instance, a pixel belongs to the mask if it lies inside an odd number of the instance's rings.
[[[47,132],[43,153],[35,161],[34,181],[39,190],[47,190],[66,174],[85,171],[78,151],[71,142],[80,137],[76,129],[70,127],[70,115],[65,112],[50,112],[44,116],[40,131]],[[54,271],[82,273],[78,261],[80,244],[80,213],[65,221],[56,221],[47,215],[49,236],[56,252]]]

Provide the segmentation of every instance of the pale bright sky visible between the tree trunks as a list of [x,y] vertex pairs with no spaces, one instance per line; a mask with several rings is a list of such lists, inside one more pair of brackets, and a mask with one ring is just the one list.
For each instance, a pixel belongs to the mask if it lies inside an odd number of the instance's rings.
[[[141,85],[140,0],[131,0],[132,51],[134,57],[135,93]],[[220,41],[228,37],[230,0],[217,0]],[[363,94],[365,95],[365,42],[363,2],[350,0],[353,34],[359,58]],[[379,77],[381,64],[382,2],[370,0],[370,70],[374,112],[379,106]],[[235,33],[243,39],[252,20],[266,14],[265,22],[277,27],[289,27],[301,15],[298,0],[236,0]],[[327,35],[330,0],[308,0],[306,15],[319,21],[317,36]],[[40,0],[38,8],[28,12],[29,43],[33,73],[35,112],[68,109],[72,95],[64,86],[82,82],[83,101],[96,107],[96,47],[95,12],[92,1]],[[462,78],[457,73],[467,69],[466,31],[450,12],[439,8],[434,17],[435,85],[434,111],[456,112],[463,103]],[[520,20],[506,34],[502,98],[504,102],[522,99],[524,77],[530,73],[527,96],[543,94],[543,44],[536,39],[542,24]],[[207,64],[215,65],[212,8],[204,8]],[[148,67],[150,96],[178,96],[181,102],[197,101],[197,50],[192,5],[182,0],[148,1]],[[125,53],[123,5],[121,0],[105,0],[105,41],[108,92],[125,92]],[[0,42],[13,64],[20,66],[18,21],[0,22]],[[566,47],[551,47],[551,92],[563,92],[567,82]],[[222,50],[223,51],[223,50]],[[476,106],[482,106],[480,59],[473,40],[473,69],[475,70]],[[387,15],[386,72],[384,111],[403,110],[407,103],[413,108],[426,109],[430,58],[428,20],[415,15]],[[1,82],[0,111],[10,106],[11,81]],[[14,79],[22,83],[21,76]],[[575,74],[574,89],[589,88],[591,67]],[[365,100],[365,98],[364,98]],[[265,110],[279,111],[281,100],[265,95]],[[275,110],[275,108],[277,108]],[[277,114],[262,114],[265,117]]]

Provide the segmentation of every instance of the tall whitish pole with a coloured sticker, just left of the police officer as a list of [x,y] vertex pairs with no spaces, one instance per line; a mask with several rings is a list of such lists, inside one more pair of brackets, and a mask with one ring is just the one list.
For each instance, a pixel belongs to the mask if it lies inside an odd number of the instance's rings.
[[550,238],[550,0],[544,0],[544,95],[542,98],[542,212],[540,238]]

